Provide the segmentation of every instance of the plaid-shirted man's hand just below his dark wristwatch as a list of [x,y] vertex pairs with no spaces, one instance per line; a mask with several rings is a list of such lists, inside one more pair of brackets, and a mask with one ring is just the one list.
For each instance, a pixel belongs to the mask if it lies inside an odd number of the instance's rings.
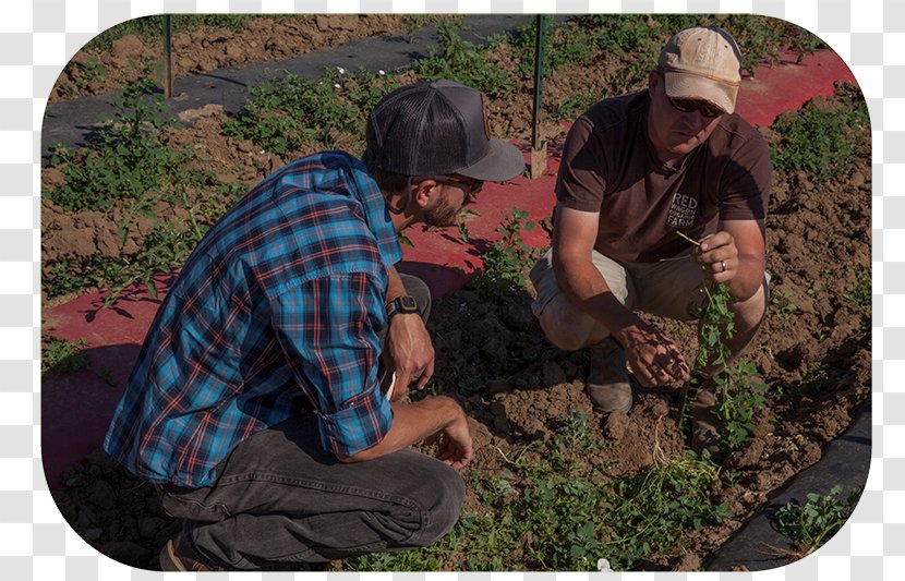
[[418,382],[418,389],[424,389],[434,375],[434,346],[421,316],[400,313],[389,319],[382,356],[387,374],[396,372],[390,401],[405,397],[412,382]]

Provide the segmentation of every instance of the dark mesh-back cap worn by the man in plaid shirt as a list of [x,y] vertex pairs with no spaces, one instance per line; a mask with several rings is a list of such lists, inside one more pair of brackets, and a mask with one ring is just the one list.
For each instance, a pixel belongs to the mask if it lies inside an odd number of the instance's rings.
[[447,80],[395,89],[367,120],[370,161],[402,175],[459,174],[502,182],[520,174],[524,157],[493,138],[484,95]]

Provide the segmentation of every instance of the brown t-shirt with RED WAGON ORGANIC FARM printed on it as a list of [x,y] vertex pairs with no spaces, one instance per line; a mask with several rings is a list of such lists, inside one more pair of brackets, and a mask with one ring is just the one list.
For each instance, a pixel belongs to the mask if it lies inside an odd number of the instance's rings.
[[737,114],[723,116],[678,169],[660,162],[647,133],[647,92],[598,102],[572,125],[556,181],[565,207],[600,211],[594,247],[629,263],[689,249],[723,220],[760,220],[770,197],[770,154]]

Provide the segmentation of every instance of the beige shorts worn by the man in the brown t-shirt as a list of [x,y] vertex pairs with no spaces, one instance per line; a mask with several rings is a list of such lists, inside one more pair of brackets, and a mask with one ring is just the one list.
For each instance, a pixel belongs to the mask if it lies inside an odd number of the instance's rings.
[[[591,257],[606,286],[626,307],[678,320],[693,320],[704,301],[704,275],[691,261],[691,251],[659,263],[622,263],[598,251]],[[540,316],[563,293],[553,271],[553,249],[531,269],[538,295],[531,305]]]

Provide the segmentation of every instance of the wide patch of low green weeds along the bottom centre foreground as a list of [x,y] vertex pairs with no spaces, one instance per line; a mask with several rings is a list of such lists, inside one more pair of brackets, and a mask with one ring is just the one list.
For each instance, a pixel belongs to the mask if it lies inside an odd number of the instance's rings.
[[574,412],[558,423],[533,449],[539,460],[522,453],[504,458],[498,474],[469,474],[481,506],[447,536],[423,549],[349,559],[343,570],[590,571],[600,559],[637,569],[681,545],[686,530],[729,516],[710,498],[713,463],[689,457],[607,481],[579,460],[600,445],[587,417]]

